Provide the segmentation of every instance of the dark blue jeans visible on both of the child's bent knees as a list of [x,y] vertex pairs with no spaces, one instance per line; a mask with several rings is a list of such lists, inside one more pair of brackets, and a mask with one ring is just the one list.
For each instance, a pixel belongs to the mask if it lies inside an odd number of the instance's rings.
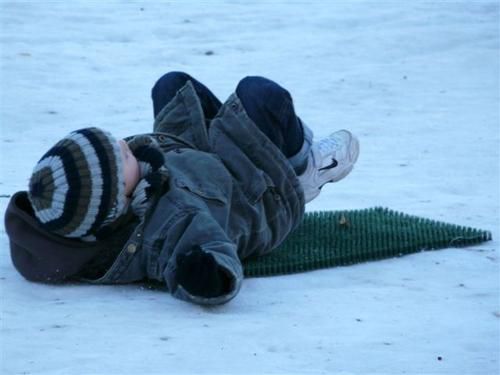
[[[222,103],[205,85],[186,73],[170,72],[152,89],[155,117],[188,80],[200,98],[205,118],[210,120],[217,115]],[[267,78],[246,77],[236,86],[236,95],[252,121],[287,158],[301,150],[304,129],[287,90]]]

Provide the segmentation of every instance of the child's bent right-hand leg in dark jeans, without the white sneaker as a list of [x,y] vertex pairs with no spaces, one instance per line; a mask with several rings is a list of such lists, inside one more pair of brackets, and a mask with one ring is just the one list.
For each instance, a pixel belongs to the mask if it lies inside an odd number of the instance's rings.
[[236,95],[253,122],[302,173],[312,133],[295,114],[290,93],[267,78],[246,77],[238,83]]

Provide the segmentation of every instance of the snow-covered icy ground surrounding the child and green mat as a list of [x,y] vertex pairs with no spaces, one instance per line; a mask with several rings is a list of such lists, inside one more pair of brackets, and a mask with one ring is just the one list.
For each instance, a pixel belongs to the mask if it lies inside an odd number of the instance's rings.
[[50,286],[0,227],[2,374],[498,374],[497,1],[0,0],[0,212],[69,131],[151,129],[169,70],[222,99],[245,75],[289,89],[361,156],[308,210],[387,206],[494,240],[248,279],[200,308],[128,286]]

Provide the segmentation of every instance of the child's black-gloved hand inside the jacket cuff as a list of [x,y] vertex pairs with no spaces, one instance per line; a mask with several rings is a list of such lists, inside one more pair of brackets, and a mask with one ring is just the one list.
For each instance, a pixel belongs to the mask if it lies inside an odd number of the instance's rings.
[[177,256],[177,282],[187,292],[200,297],[218,297],[229,293],[230,277],[212,254],[195,247]]

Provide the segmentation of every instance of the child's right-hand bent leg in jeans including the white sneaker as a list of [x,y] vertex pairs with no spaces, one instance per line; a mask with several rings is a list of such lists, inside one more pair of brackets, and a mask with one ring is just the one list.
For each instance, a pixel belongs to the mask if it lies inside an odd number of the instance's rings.
[[244,78],[236,94],[248,116],[288,158],[306,202],[317,197],[323,185],[351,172],[359,142],[349,131],[340,130],[313,143],[311,130],[295,114],[290,93],[266,78]]

